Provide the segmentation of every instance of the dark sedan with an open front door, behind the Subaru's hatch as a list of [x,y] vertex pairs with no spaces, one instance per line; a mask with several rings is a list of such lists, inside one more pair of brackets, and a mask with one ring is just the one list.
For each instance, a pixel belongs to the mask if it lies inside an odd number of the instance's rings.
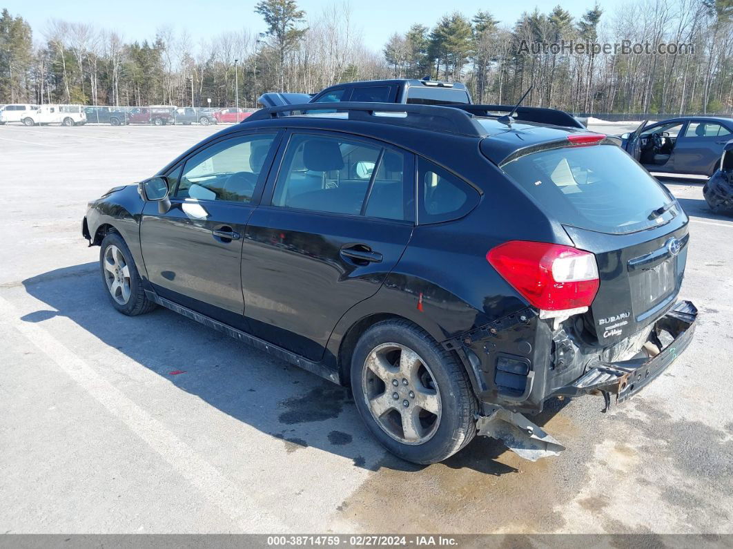
[[649,172],[712,175],[723,147],[733,138],[733,119],[681,117],[647,125],[621,136],[622,148]]

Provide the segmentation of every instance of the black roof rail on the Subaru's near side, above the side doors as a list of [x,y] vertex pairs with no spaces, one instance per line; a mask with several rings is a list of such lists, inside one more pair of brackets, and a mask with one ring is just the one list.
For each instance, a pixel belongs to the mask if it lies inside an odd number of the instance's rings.
[[410,105],[405,103],[306,103],[261,108],[243,122],[268,120],[290,112],[290,116],[316,114],[317,111],[347,112],[350,120],[359,122],[380,122],[409,128],[456,133],[460,136],[484,137],[486,130],[476,121],[471,112],[460,111],[448,106]]

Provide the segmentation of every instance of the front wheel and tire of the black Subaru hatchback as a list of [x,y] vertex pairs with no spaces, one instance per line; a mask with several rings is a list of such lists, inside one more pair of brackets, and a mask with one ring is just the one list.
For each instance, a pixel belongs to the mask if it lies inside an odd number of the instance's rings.
[[145,297],[130,248],[117,232],[108,232],[102,240],[99,266],[107,297],[115,309],[129,317],[155,309],[155,303]]

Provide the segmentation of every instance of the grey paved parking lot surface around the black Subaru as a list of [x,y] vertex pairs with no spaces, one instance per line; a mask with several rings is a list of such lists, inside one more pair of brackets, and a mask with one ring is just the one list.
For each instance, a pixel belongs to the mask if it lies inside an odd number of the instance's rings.
[[218,129],[0,128],[0,531],[733,534],[733,220],[699,181],[665,181],[691,220],[680,297],[700,309],[668,372],[608,414],[553,402],[537,423],[559,457],[476,438],[417,467],[344,389],[108,304],[87,200]]

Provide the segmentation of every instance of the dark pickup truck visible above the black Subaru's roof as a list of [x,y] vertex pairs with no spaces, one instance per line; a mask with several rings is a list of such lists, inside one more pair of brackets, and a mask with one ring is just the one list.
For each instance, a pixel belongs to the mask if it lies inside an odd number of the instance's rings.
[[368,80],[328,86],[316,95],[304,93],[265,93],[259,103],[265,107],[297,103],[408,103],[413,105],[470,105],[471,94],[459,82],[414,80]]

